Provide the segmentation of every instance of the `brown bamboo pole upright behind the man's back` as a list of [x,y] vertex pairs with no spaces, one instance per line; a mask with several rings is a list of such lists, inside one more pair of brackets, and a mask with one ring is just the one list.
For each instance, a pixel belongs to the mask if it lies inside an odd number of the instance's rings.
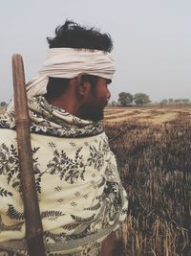
[[14,88],[15,125],[17,133],[18,157],[21,189],[26,219],[26,237],[31,256],[44,256],[43,228],[33,174],[30,117],[25,89],[23,59],[12,56],[12,77]]

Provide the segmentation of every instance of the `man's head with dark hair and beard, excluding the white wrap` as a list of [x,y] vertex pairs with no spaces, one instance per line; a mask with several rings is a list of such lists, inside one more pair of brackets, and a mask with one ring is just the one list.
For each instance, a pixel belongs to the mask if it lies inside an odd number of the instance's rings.
[[[90,52],[99,50],[104,53],[113,49],[110,35],[69,20],[56,28],[55,37],[47,39],[50,48],[89,49]],[[103,108],[110,98],[107,89],[110,82],[110,79],[88,72],[81,72],[73,79],[50,77],[45,97],[50,104],[63,107],[80,118],[98,121],[103,118]]]

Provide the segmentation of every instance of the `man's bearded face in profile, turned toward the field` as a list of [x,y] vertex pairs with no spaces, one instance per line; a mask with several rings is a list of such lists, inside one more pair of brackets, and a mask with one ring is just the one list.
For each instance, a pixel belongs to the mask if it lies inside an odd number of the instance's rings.
[[103,119],[104,107],[111,97],[111,93],[108,90],[108,83],[110,82],[110,80],[98,78],[96,84],[92,85],[88,98],[82,105],[81,118],[95,122]]

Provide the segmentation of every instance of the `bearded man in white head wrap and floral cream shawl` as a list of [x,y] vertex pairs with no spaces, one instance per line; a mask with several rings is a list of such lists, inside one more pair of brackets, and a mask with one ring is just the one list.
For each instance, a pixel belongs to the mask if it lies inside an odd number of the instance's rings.
[[[46,251],[98,255],[127,211],[101,123],[115,72],[113,43],[110,35],[68,20],[48,42],[39,76],[27,84]],[[27,255],[12,106],[0,128],[0,248]]]

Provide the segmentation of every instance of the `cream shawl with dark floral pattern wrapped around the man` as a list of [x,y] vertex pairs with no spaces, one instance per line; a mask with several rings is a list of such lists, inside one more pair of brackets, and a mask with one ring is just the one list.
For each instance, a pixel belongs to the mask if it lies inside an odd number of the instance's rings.
[[[47,255],[101,242],[125,220],[126,193],[101,123],[29,102],[32,157]],[[0,119],[0,248],[28,255],[14,113]]]

